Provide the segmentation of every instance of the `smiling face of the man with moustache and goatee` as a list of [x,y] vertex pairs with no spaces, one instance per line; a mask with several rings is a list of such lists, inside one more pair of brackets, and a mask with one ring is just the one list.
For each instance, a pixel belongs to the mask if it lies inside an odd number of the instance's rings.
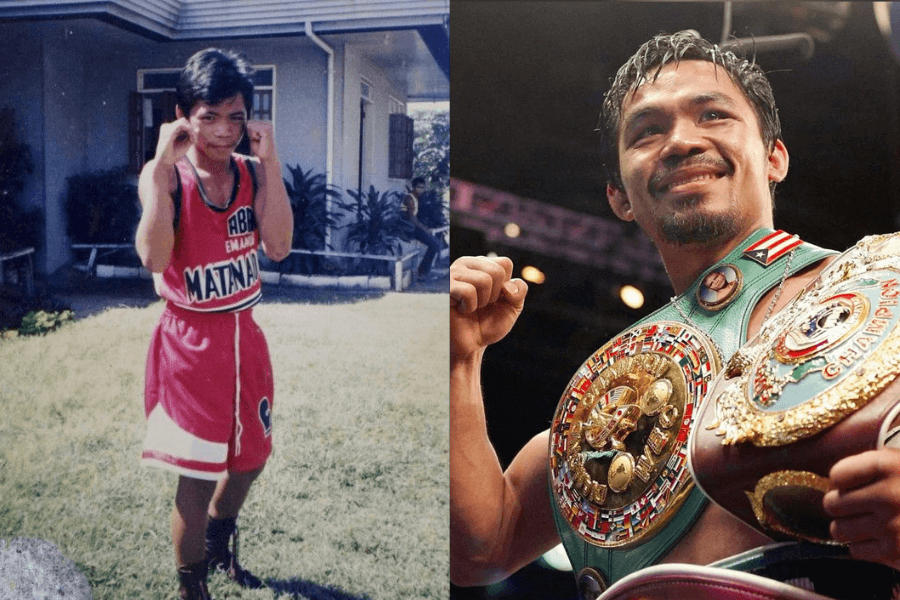
[[787,150],[765,147],[740,89],[698,60],[665,66],[626,97],[618,152],[625,191],[607,190],[613,210],[669,244],[771,226],[769,182],[787,173]]

